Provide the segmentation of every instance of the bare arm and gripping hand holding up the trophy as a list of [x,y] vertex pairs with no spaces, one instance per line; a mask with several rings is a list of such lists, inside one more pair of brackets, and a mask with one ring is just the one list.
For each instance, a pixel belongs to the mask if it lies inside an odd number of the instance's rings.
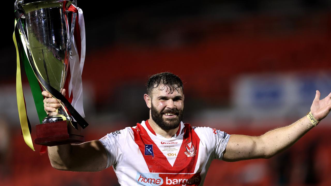
[[[65,90],[62,90],[65,95]],[[59,108],[59,101],[43,91],[44,109],[47,114],[56,114],[55,108]],[[78,145],[59,145],[48,147],[48,157],[51,165],[59,170],[70,171],[100,171],[107,165],[107,153],[99,140],[89,141]]]

